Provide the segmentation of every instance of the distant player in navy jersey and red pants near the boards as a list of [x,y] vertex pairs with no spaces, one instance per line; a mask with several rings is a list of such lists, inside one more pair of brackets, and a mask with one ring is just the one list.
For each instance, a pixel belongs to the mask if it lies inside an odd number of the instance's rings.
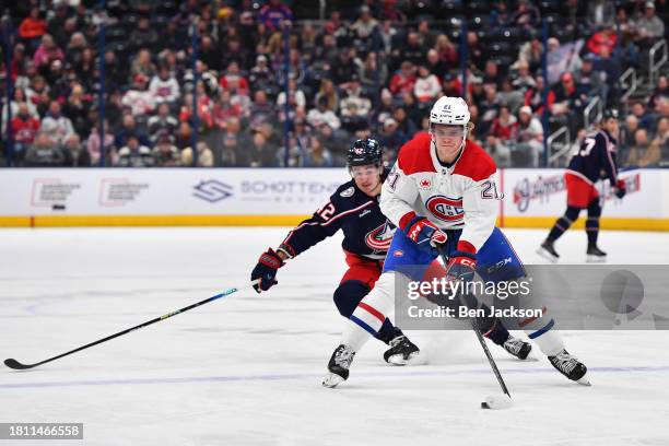
[[625,183],[618,178],[618,163],[615,160],[619,130],[618,119],[617,109],[606,110],[600,129],[596,133],[588,134],[572,156],[564,174],[567,190],[566,211],[564,215],[558,219],[538,250],[539,255],[550,261],[555,262],[560,258],[554,243],[576,221],[583,209],[588,210],[588,219],[586,220],[586,234],[588,237],[586,260],[589,262],[606,261],[607,254],[597,246],[601,204],[595,183],[599,179],[608,178],[614,188],[615,196],[618,198],[625,196]]

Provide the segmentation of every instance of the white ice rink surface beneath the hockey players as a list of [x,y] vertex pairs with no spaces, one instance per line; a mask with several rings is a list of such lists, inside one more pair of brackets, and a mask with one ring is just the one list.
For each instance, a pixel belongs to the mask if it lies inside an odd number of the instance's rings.
[[[286,228],[0,231],[0,356],[37,362],[246,286]],[[527,263],[545,231],[512,231]],[[392,367],[371,341],[351,377],[325,389],[344,319],[332,303],[340,238],[279,271],[280,284],[223,300],[32,371],[0,372],[0,422],[83,422],[90,445],[669,445],[669,332],[565,332],[592,387],[491,350],[469,331],[410,332],[426,365]],[[602,232],[609,263],[667,263],[669,234]],[[585,233],[556,244],[585,258]],[[10,444],[12,442],[2,442]],[[37,444],[23,442],[22,445]],[[78,444],[49,441],[42,444]]]

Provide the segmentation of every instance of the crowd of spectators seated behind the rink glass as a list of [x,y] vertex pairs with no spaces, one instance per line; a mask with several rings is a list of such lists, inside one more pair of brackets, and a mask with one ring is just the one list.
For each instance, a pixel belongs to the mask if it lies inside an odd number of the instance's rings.
[[[3,36],[13,35],[0,77],[13,94],[1,99],[1,150],[13,165],[341,166],[365,137],[391,162],[448,94],[467,98],[471,138],[500,166],[540,166],[548,132],[583,138],[592,98],[626,106],[620,75],[647,70],[644,55],[667,33],[665,0],[328,1],[326,21],[283,0],[106,3],[4,11]],[[622,164],[659,165],[667,77],[627,108]]]

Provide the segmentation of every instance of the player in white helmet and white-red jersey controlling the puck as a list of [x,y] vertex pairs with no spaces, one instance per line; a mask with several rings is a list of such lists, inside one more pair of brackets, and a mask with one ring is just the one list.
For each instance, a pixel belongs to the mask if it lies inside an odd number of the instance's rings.
[[[483,149],[467,139],[473,128],[469,118],[462,98],[443,96],[431,110],[430,132],[416,134],[400,150],[380,198],[382,212],[399,231],[376,286],[345,322],[324,386],[334,387],[349,377],[355,353],[392,310],[396,274],[423,280],[427,266],[443,253],[450,281],[471,281],[474,272],[486,282],[525,275],[520,259],[495,227],[501,199],[496,166]],[[503,271],[491,268],[509,258]],[[586,366],[565,350],[553,327],[554,320],[544,315],[524,329],[560,373],[589,384]]]

